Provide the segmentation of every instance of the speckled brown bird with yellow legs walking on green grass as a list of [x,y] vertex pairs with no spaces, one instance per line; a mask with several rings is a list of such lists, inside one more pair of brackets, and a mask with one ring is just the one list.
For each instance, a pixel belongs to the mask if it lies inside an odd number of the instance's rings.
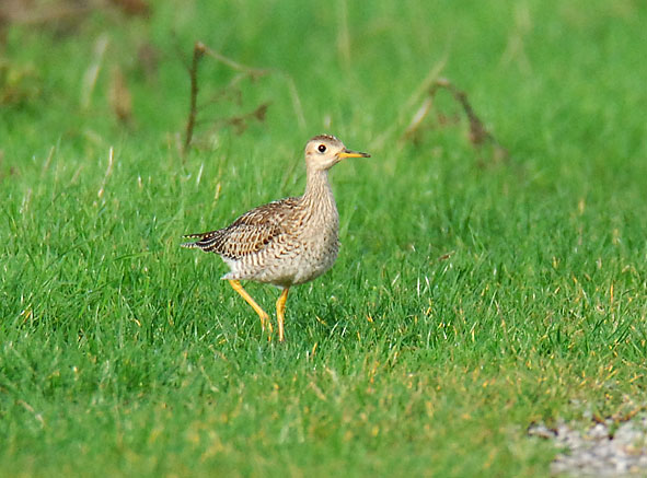
[[258,206],[230,225],[209,232],[186,234],[181,244],[218,254],[229,266],[222,276],[252,306],[261,327],[274,327],[269,315],[247,293],[241,280],[268,283],[281,289],[276,301],[278,340],[285,340],[285,311],[293,285],[316,279],[333,267],[339,250],[339,214],[328,182],[328,171],[349,158],[370,154],[347,149],[331,135],[317,135],[305,144],[305,191]]

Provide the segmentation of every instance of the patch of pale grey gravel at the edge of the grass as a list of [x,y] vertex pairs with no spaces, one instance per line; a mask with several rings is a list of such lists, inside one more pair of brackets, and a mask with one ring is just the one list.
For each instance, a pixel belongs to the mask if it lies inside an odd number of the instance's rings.
[[585,477],[647,476],[647,417],[614,423],[608,420],[587,430],[562,422],[556,428],[533,424],[528,434],[552,440],[562,448],[554,474]]

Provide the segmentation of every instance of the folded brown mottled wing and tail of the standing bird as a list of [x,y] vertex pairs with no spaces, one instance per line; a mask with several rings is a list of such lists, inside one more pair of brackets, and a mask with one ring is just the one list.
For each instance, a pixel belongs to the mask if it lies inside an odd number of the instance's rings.
[[198,241],[182,245],[199,247],[231,259],[256,253],[285,233],[287,220],[297,203],[298,198],[286,198],[258,206],[227,228],[186,235]]

